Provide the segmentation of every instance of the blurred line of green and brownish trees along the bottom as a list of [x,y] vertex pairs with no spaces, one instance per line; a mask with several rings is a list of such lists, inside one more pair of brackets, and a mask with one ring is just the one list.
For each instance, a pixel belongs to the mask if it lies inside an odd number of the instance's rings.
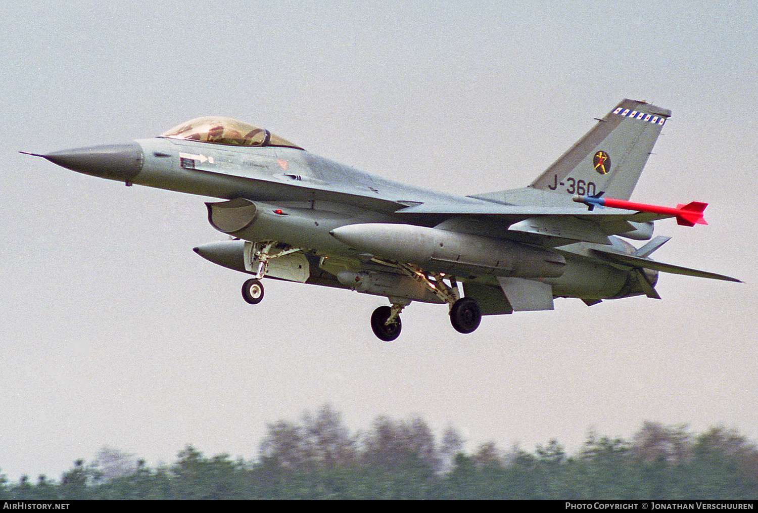
[[0,474],[0,499],[758,499],[758,449],[736,430],[644,422],[630,440],[588,433],[568,455],[439,442],[421,418],[374,419],[351,432],[330,405],[268,424],[258,458],[205,456],[186,446],[151,468],[103,448],[58,481]]

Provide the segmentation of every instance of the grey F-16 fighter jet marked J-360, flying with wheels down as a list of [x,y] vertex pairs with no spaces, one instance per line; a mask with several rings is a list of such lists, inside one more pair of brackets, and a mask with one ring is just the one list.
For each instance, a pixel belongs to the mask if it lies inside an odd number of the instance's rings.
[[552,310],[556,297],[659,299],[659,272],[739,281],[650,259],[669,240],[653,238],[653,221],[705,224],[705,203],[628,201],[670,115],[625,99],[529,186],[474,196],[374,177],[227,117],[39,156],[127,186],[223,200],[205,204],[208,221],[232,239],[195,251],[252,275],[246,302],[263,299],[264,277],[384,296],[390,305],[371,328],[389,341],[413,301],[447,305],[453,327],[471,333],[482,315]]

